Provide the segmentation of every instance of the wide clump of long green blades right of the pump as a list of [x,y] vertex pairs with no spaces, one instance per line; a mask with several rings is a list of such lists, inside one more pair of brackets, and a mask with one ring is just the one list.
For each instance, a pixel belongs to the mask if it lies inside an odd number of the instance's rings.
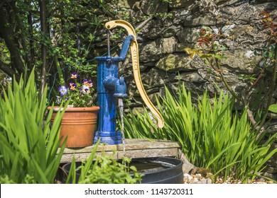
[[194,105],[184,85],[179,86],[178,98],[165,88],[158,107],[165,120],[163,129],[156,127],[145,109],[143,115],[124,115],[125,136],[179,141],[192,164],[211,170],[215,176],[248,182],[277,152],[268,153],[277,134],[261,143],[263,137],[256,139],[259,130],[251,129],[246,110],[241,115],[234,112],[234,100],[223,92],[211,100],[206,91]]

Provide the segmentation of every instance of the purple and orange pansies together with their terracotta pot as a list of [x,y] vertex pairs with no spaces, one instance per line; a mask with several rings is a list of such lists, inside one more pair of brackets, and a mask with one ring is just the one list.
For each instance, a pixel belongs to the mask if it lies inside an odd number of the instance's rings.
[[[97,124],[98,106],[94,106],[92,93],[94,86],[92,81],[84,79],[77,81],[77,72],[73,72],[68,80],[68,86],[58,88],[56,96],[53,120],[55,112],[63,110],[63,105],[68,104],[61,122],[60,137],[66,141],[66,147],[76,148],[91,146],[94,138],[94,130]],[[49,109],[51,107],[48,107]]]

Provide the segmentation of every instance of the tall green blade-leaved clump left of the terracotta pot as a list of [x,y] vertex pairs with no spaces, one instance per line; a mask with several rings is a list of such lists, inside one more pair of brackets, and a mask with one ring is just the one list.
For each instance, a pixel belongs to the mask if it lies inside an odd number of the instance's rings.
[[53,110],[44,119],[46,105],[46,89],[39,96],[34,71],[28,81],[14,81],[0,98],[1,182],[54,182],[65,148],[58,153],[63,112],[50,127]]

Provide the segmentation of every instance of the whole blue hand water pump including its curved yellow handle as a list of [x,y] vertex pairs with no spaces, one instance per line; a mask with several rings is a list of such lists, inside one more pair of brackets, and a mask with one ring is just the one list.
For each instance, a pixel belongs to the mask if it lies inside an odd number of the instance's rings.
[[135,30],[128,22],[122,20],[109,21],[105,24],[108,30],[112,30],[117,26],[125,28],[128,33],[119,57],[110,56],[108,42],[108,56],[95,58],[98,63],[97,92],[100,110],[98,112],[98,129],[94,135],[94,143],[96,143],[98,139],[100,139],[100,142],[106,144],[121,144],[122,142],[121,132],[116,132],[116,104],[117,99],[126,98],[127,93],[124,78],[119,77],[119,62],[124,61],[129,47],[131,50],[134,78],[141,98],[153,115],[157,117],[158,127],[163,127],[164,124],[161,113],[158,112],[156,107],[151,103],[141,83],[141,75],[139,73],[139,50],[138,43],[136,42]]

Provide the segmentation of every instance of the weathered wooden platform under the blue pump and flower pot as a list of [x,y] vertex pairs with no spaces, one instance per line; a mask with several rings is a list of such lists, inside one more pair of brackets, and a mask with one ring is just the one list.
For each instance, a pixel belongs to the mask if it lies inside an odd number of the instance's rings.
[[[94,145],[85,148],[65,148],[61,163],[72,161],[73,155],[76,161],[82,161],[88,158]],[[180,157],[180,144],[175,141],[147,140],[147,139],[126,139],[126,147],[124,153],[123,144],[103,145],[97,147],[97,155],[101,155],[102,151],[106,155],[116,154],[114,158],[121,159],[123,156],[128,158],[148,158],[157,156],[173,156]]]

